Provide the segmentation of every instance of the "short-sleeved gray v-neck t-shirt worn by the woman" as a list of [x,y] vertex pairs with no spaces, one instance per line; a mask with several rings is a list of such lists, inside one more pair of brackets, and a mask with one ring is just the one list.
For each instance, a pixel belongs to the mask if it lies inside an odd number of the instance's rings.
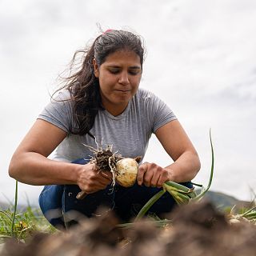
[[[118,116],[113,116],[107,110],[99,110],[94,126],[90,130],[97,140],[98,146],[88,134],[70,134],[70,127],[75,127],[72,116],[71,101],[68,90],[58,93],[56,100],[45,107],[38,116],[67,132],[66,138],[59,144],[52,158],[58,161],[72,162],[78,158],[90,158],[93,154],[89,147],[106,148],[113,145],[113,152],[118,151],[126,158],[144,157],[152,133],[159,127],[176,119],[166,103],[157,96],[143,89],[130,100],[126,110]],[[85,146],[87,145],[87,146]]]

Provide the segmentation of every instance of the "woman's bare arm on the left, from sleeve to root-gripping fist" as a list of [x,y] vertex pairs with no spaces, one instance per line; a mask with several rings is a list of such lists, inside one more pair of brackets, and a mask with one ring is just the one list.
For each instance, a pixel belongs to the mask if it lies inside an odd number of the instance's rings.
[[82,166],[48,159],[64,138],[64,130],[38,119],[14,152],[10,176],[30,185],[78,184],[87,193],[103,189],[110,183],[92,164]]

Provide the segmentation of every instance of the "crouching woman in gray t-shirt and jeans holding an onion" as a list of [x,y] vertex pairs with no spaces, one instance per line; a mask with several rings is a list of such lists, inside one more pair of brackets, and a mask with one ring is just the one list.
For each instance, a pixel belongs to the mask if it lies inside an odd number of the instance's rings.
[[[49,210],[61,209],[61,215],[76,210],[91,217],[102,204],[128,220],[164,182],[191,186],[200,169],[198,154],[174,113],[154,94],[138,89],[144,57],[138,35],[107,30],[89,50],[76,52],[73,61],[81,53],[81,67],[39,115],[10,162],[9,174],[19,182],[47,185],[39,203],[54,226],[63,220],[47,215]],[[131,188],[117,185],[113,190],[110,172],[99,172],[88,162],[88,146],[97,148],[97,142],[113,145],[123,157],[143,158],[152,133],[174,162],[166,167],[141,162]],[[47,158],[55,149],[54,157]],[[77,200],[80,190],[87,195]],[[173,206],[166,193],[150,211],[162,214]]]

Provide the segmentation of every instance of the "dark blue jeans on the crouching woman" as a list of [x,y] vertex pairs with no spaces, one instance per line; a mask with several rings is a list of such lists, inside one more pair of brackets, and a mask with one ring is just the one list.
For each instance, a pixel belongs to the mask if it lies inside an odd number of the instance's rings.
[[[86,164],[86,162],[88,161],[82,158],[73,163]],[[183,182],[181,184],[190,188],[193,187],[191,182]],[[85,198],[78,200],[76,195],[81,190],[77,185],[47,185],[39,196],[39,205],[47,220],[57,227],[65,226],[63,214],[74,210],[90,218],[95,214],[99,206],[107,206],[114,210],[118,218],[127,222],[130,218],[134,218],[142,206],[159,190],[162,189],[138,186],[137,183],[128,188],[118,185],[114,186],[114,188],[107,186],[105,190],[87,194]],[[169,193],[165,193],[150,208],[150,213],[161,215],[170,212],[175,205],[174,198]],[[52,213],[55,211],[54,214],[47,214],[50,213],[50,210],[52,210]]]

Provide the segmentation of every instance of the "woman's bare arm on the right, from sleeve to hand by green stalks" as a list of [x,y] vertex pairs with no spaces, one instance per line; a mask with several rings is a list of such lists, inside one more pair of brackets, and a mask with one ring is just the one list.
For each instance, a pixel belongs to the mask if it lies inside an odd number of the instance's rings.
[[200,161],[178,120],[166,123],[155,134],[174,162],[165,168],[154,163],[143,163],[138,171],[138,184],[162,186],[167,180],[188,182],[193,179],[200,170]]

